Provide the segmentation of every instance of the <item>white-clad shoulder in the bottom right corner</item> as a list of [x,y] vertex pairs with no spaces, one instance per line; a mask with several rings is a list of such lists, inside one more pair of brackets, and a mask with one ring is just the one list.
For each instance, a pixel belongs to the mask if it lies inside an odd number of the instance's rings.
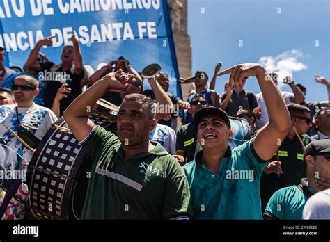
[[330,189],[311,196],[304,207],[304,219],[330,219]]

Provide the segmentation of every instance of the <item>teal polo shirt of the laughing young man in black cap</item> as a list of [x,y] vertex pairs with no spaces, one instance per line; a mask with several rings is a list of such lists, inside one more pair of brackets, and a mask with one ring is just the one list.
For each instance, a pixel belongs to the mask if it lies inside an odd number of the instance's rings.
[[259,183],[267,161],[258,157],[252,144],[248,140],[233,150],[228,146],[218,174],[201,163],[203,151],[183,166],[194,218],[262,219]]

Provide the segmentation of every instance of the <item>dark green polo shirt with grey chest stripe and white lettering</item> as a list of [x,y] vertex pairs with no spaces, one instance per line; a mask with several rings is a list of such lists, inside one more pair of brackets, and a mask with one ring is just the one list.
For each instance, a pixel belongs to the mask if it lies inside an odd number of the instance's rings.
[[81,142],[92,159],[83,219],[189,218],[189,186],[159,143],[124,159],[120,140],[95,125]]

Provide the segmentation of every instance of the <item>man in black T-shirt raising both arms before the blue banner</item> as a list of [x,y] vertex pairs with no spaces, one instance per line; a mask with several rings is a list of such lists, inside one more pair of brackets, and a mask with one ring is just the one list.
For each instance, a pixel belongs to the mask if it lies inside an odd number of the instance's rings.
[[52,62],[37,62],[38,53],[42,46],[52,45],[54,36],[39,40],[36,47],[26,61],[26,67],[39,71],[45,76],[47,87],[45,89],[44,106],[52,108],[54,98],[63,83],[68,84],[71,92],[67,92],[67,97],[61,99],[60,116],[69,104],[80,95],[82,86],[84,86],[84,66],[82,62],[79,38],[74,33],[71,37],[72,45],[65,45],[61,54],[61,64],[55,65]]

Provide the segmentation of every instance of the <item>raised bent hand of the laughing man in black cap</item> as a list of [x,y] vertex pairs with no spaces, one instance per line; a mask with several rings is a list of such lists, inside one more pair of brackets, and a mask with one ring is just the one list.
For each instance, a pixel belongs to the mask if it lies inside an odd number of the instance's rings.
[[227,70],[224,70],[222,72],[219,72],[218,76],[222,76],[225,74],[230,74],[229,77],[229,87],[233,88],[233,85],[235,83],[235,86],[241,88],[244,85],[244,78],[249,76],[265,76],[265,69],[255,63],[249,63],[249,64],[239,64],[235,65],[233,67],[230,67]]

